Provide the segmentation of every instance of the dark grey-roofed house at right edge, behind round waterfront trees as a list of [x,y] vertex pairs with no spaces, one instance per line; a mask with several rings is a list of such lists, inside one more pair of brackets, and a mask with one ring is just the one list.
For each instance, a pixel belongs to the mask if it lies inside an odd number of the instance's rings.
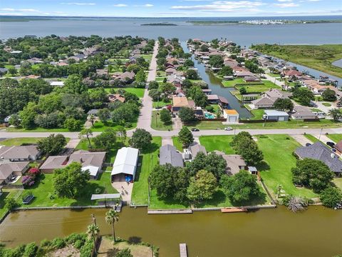
[[294,153],[301,159],[313,158],[315,160],[323,161],[336,176],[341,176],[342,161],[321,141],[313,143],[311,146],[296,148]]

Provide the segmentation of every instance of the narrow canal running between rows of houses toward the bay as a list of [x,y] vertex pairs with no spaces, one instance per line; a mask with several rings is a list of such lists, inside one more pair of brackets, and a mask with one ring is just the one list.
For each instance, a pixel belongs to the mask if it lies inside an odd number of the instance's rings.
[[[189,53],[186,42],[182,42],[181,46],[186,53]],[[212,94],[217,94],[217,96],[223,96],[225,99],[227,99],[229,102],[229,107],[231,109],[237,110],[240,118],[252,117],[252,114],[246,108],[244,108],[243,104],[230,92],[236,89],[224,87],[221,83],[221,79],[217,79],[217,77],[213,76],[209,72],[206,72],[204,64],[198,63],[194,56],[192,56],[192,61],[195,63],[195,68],[197,68],[199,76],[201,76],[201,78],[208,84],[209,89],[212,89]]]

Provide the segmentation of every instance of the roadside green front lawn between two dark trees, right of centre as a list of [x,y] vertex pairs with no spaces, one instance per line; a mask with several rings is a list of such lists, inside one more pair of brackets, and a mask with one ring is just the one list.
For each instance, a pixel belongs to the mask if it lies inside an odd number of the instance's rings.
[[233,138],[234,136],[199,136],[199,143],[206,148],[207,152],[218,150],[226,154],[234,154],[230,146]]

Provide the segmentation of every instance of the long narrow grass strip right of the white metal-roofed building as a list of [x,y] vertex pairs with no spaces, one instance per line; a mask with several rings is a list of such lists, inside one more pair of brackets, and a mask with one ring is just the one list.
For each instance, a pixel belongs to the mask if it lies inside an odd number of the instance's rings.
[[159,136],[153,137],[149,148],[142,151],[142,164],[138,167],[135,174],[135,181],[133,184],[132,203],[136,205],[148,203],[148,183],[147,179],[150,176],[152,169],[158,163],[159,148],[162,146],[162,138]]

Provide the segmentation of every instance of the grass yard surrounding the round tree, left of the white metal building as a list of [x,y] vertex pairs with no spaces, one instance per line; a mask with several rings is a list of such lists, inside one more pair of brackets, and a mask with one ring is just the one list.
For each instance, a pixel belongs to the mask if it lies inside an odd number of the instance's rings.
[[[110,183],[110,173],[103,172],[98,180],[90,180],[88,186],[82,189],[80,196],[76,199],[58,198],[53,191],[53,173],[42,174],[40,181],[37,181],[31,188],[25,189],[35,196],[34,200],[26,204],[27,207],[36,206],[90,206],[95,205],[90,197],[95,193],[96,188],[101,188],[103,193],[118,193]],[[19,201],[21,198],[19,198]]]

